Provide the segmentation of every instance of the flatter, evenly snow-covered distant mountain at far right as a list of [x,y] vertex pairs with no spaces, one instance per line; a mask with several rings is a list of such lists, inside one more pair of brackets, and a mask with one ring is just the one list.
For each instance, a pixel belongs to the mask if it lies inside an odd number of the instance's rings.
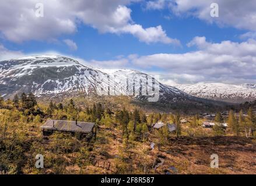
[[199,98],[233,103],[256,100],[256,84],[198,83],[177,84],[173,86]]

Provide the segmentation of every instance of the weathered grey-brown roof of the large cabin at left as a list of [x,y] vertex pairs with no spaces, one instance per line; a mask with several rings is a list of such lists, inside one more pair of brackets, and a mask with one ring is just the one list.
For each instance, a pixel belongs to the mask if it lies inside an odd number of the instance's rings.
[[47,120],[42,128],[43,130],[67,131],[74,133],[90,133],[93,130],[95,123],[87,123],[78,121],[64,120]]

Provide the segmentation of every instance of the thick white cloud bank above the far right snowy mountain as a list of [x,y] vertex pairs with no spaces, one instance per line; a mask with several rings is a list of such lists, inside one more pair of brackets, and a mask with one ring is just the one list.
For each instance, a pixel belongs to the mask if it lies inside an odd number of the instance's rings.
[[[136,67],[145,70],[162,69],[163,80],[177,83],[256,82],[256,41],[207,42],[205,37],[195,37],[188,46],[197,51],[187,53],[157,53],[132,60]],[[162,75],[163,76],[163,75]]]

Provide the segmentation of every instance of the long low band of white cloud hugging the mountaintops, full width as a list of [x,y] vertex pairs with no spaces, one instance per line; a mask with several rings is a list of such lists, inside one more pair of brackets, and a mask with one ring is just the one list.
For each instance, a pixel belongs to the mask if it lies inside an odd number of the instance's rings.
[[[230,83],[256,82],[256,40],[244,42],[208,42],[205,37],[195,37],[188,46],[196,47],[187,53],[156,53],[148,56],[118,56],[113,60],[85,60],[67,56],[84,65],[106,69],[128,68],[159,74],[163,83]],[[62,55],[47,51],[26,53],[10,51],[0,44],[0,60],[27,55]],[[157,69],[157,71],[156,71]],[[155,71],[152,71],[155,70]]]

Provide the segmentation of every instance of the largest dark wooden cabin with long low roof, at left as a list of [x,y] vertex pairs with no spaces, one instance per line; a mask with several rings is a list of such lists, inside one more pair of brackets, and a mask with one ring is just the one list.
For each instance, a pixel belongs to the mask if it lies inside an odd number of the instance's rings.
[[79,138],[92,138],[96,136],[95,123],[80,122],[80,121],[64,121],[64,120],[47,120],[40,127],[43,135],[50,135],[54,131],[62,133],[76,134]]

